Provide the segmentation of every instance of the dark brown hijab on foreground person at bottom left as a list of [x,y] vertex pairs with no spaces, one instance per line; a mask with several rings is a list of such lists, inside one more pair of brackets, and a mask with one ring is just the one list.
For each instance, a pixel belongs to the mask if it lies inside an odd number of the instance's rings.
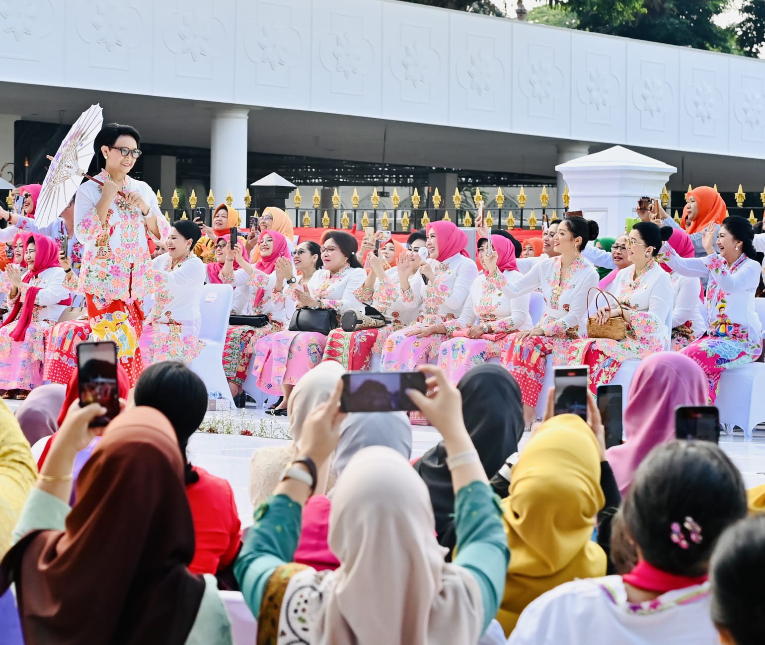
[[137,407],[80,472],[66,529],[33,531],[5,556],[0,593],[16,583],[27,645],[182,645],[205,586],[187,569],[193,556],[175,433]]

